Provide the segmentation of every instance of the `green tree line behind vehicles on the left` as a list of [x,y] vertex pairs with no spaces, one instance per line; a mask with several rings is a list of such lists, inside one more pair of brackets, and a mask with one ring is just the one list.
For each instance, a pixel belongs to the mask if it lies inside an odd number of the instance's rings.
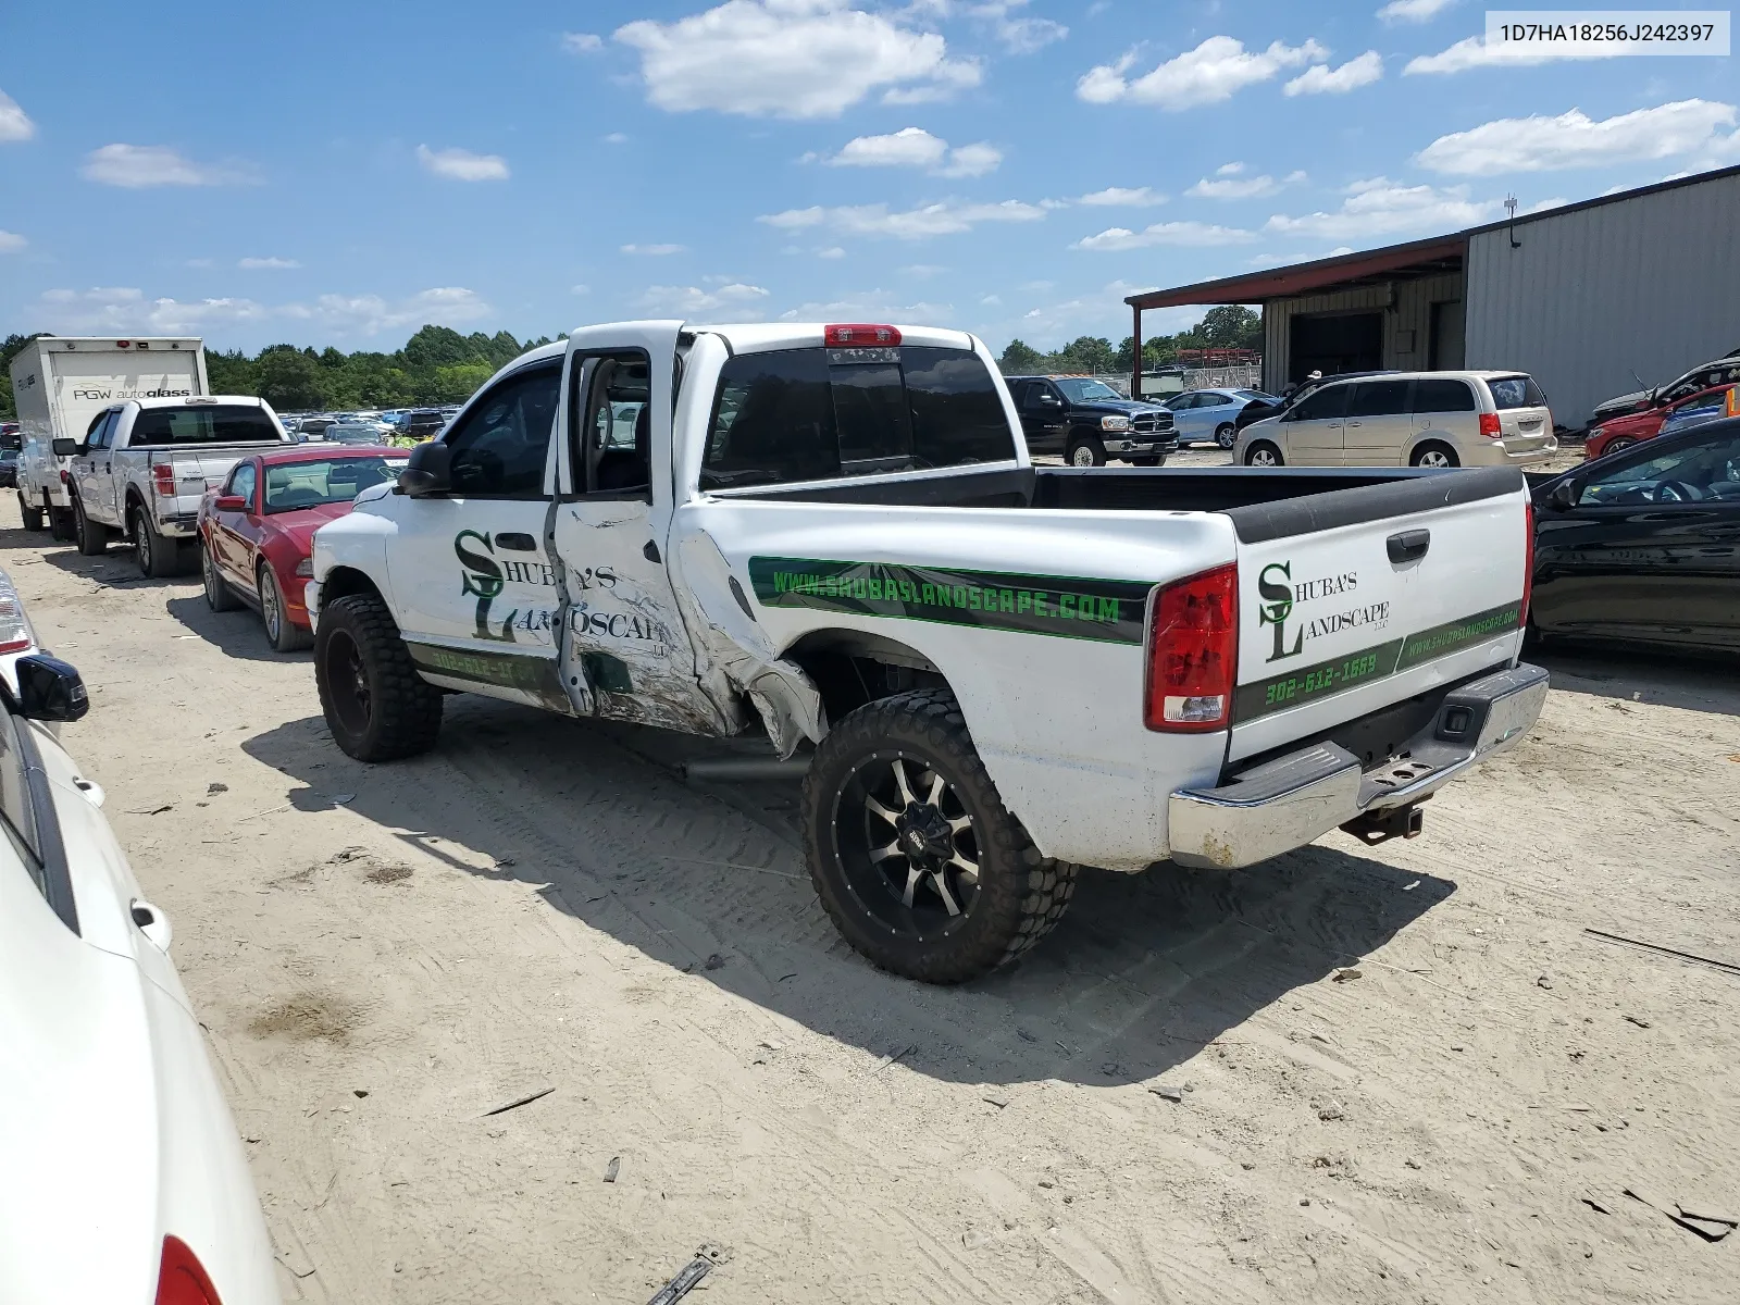
[[[0,421],[16,421],[12,357],[37,336],[9,336],[0,343]],[[268,345],[252,357],[242,350],[205,350],[205,372],[214,395],[259,395],[280,412],[327,412],[364,407],[416,407],[461,404],[496,369],[550,339],[515,339],[506,331],[461,336],[451,327],[426,325],[392,353],[343,353]]]

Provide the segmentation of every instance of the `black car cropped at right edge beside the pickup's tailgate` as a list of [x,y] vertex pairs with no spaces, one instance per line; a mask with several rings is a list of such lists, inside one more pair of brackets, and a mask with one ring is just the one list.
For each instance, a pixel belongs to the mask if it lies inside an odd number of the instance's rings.
[[1740,652],[1740,419],[1582,463],[1533,496],[1531,633]]

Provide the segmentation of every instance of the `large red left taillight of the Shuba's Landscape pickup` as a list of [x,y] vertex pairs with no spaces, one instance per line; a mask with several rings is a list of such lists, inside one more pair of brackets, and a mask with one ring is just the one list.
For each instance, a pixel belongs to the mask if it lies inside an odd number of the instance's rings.
[[1239,677],[1239,567],[1166,585],[1148,626],[1148,729],[1208,733],[1232,722]]

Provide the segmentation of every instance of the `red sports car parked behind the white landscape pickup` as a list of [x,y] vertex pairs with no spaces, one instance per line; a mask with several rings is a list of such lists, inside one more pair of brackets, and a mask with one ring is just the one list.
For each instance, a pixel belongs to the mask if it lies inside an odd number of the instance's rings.
[[259,609],[280,652],[313,642],[303,585],[315,531],[357,494],[397,480],[411,454],[381,445],[299,445],[244,458],[200,501],[200,572],[214,612]]

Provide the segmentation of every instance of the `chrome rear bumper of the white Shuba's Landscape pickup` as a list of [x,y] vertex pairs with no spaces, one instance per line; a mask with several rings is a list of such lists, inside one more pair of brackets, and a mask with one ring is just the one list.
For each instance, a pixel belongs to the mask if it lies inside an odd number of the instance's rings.
[[1519,665],[1449,693],[1404,760],[1361,771],[1347,748],[1315,743],[1218,788],[1180,788],[1168,802],[1173,860],[1255,865],[1368,813],[1420,802],[1522,738],[1545,703],[1547,672]]

